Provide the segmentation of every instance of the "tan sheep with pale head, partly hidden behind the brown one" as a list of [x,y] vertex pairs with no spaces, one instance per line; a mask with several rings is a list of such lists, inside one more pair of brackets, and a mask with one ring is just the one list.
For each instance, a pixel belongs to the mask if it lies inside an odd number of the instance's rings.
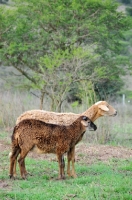
[[[73,121],[75,121],[79,116],[85,115],[92,122],[102,116],[116,116],[117,111],[109,105],[106,101],[99,101],[93,104],[89,109],[81,114],[75,113],[56,113],[49,112],[44,110],[30,110],[24,112],[17,118],[16,124],[18,124],[23,119],[39,119],[41,121],[53,124],[60,125],[70,125]],[[78,142],[82,139],[82,136],[78,140]],[[67,153],[67,174],[69,176],[77,177],[74,168],[75,162],[75,146],[70,149]],[[70,171],[70,162],[72,162],[72,170]],[[16,174],[16,167],[14,167],[14,174]]]

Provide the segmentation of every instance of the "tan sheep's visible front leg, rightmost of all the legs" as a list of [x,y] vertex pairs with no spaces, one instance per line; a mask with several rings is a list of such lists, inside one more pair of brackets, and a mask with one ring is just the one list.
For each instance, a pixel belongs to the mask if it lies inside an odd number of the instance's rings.
[[[75,146],[72,147],[69,152],[67,153],[67,174],[68,176],[73,176],[74,178],[77,177],[75,172]],[[70,171],[70,162],[72,161],[72,171]]]

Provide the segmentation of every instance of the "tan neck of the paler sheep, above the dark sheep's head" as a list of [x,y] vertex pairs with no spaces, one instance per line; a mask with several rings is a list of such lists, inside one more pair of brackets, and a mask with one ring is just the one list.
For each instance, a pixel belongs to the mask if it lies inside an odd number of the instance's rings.
[[91,106],[88,110],[83,112],[82,115],[86,115],[92,122],[101,117],[98,113],[98,107],[96,105]]

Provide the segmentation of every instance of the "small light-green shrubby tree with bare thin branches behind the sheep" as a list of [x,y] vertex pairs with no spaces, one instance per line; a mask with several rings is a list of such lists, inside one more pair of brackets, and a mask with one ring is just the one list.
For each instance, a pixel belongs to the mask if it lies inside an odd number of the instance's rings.
[[[89,60],[85,60],[86,57],[89,57]],[[81,84],[84,80],[92,81],[98,78],[96,71],[86,75],[84,68],[88,62],[97,57],[79,47],[71,48],[70,52],[59,49],[54,51],[53,55],[40,57],[38,61],[40,72],[35,73],[34,78],[38,79],[37,87],[42,91],[41,98],[43,99],[45,94],[50,97],[51,110],[61,111],[61,105],[67,99],[67,93],[72,90],[74,83]]]

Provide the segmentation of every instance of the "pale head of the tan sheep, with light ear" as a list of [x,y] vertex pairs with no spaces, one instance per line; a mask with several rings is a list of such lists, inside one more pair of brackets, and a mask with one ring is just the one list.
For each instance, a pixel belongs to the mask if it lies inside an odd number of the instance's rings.
[[116,116],[117,111],[109,105],[106,101],[99,101],[95,103],[95,105],[98,107],[98,114],[100,116]]

